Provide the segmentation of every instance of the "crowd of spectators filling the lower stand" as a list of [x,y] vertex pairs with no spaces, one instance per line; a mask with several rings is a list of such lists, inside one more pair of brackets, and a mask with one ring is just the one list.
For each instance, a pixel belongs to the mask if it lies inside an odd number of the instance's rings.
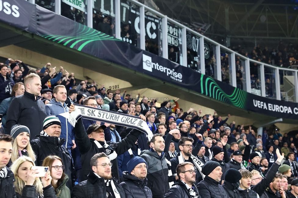
[[[77,82],[47,63],[1,63],[0,197],[297,197],[294,137],[204,115],[160,108],[146,97]],[[139,95],[140,97],[140,95]],[[139,116],[154,134],[63,115],[74,104]],[[46,167],[45,173],[36,166]],[[42,175],[43,174],[43,175]]]

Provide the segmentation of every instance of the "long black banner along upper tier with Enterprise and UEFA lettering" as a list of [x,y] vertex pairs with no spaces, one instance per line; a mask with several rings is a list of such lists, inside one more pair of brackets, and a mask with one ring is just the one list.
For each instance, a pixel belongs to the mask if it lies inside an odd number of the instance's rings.
[[[247,93],[23,0],[2,2],[0,20],[69,48],[196,91],[238,108],[278,118],[298,119],[298,103]],[[194,37],[193,41],[192,47],[194,51],[198,51],[197,38]]]

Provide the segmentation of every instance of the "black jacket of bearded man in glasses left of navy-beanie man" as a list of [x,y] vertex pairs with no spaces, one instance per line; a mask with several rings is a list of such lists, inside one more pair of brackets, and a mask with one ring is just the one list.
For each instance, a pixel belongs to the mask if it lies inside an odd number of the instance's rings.
[[[115,187],[121,198],[125,198],[125,193],[117,179],[112,177]],[[106,198],[107,191],[104,178],[97,177],[93,171],[87,176],[87,180],[74,186],[74,198]]]

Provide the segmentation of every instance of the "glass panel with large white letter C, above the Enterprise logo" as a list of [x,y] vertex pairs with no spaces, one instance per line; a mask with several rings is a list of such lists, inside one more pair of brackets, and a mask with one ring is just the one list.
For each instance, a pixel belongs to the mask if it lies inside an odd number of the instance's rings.
[[145,10],[145,47],[158,56],[162,56],[162,18]]

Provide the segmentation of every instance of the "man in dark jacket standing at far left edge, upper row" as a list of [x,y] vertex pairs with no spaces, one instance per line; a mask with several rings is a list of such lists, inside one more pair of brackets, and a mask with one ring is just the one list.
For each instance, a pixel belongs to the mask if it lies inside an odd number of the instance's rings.
[[14,81],[10,78],[8,74],[8,66],[7,65],[1,65],[1,75],[0,75],[0,103],[6,99],[9,98],[11,95],[11,92],[13,90]]

